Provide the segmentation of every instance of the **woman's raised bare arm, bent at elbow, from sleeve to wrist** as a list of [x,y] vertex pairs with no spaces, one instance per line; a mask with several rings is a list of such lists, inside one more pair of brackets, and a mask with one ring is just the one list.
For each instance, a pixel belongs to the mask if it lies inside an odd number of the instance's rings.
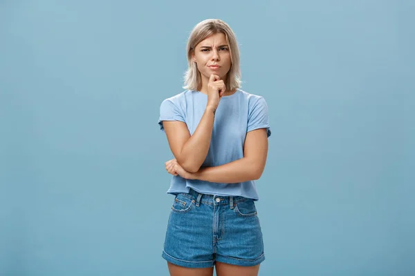
[[197,172],[208,155],[215,110],[212,106],[206,106],[192,136],[183,121],[163,121],[170,150],[178,164],[188,172]]

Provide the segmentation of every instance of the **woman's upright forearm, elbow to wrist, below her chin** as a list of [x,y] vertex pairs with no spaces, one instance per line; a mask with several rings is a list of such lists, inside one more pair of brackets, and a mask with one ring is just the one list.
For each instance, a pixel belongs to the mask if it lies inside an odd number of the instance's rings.
[[177,159],[178,163],[189,172],[197,172],[208,155],[215,110],[211,106],[205,108],[199,125],[183,145],[180,157]]

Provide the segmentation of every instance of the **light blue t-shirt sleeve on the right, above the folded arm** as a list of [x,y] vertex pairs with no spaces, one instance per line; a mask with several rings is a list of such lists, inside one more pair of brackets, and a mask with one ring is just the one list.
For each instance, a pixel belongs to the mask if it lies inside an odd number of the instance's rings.
[[268,106],[264,97],[260,97],[254,106],[250,108],[250,114],[248,115],[248,129],[246,132],[256,130],[258,128],[266,128],[267,137],[271,136],[271,128],[268,119]]

